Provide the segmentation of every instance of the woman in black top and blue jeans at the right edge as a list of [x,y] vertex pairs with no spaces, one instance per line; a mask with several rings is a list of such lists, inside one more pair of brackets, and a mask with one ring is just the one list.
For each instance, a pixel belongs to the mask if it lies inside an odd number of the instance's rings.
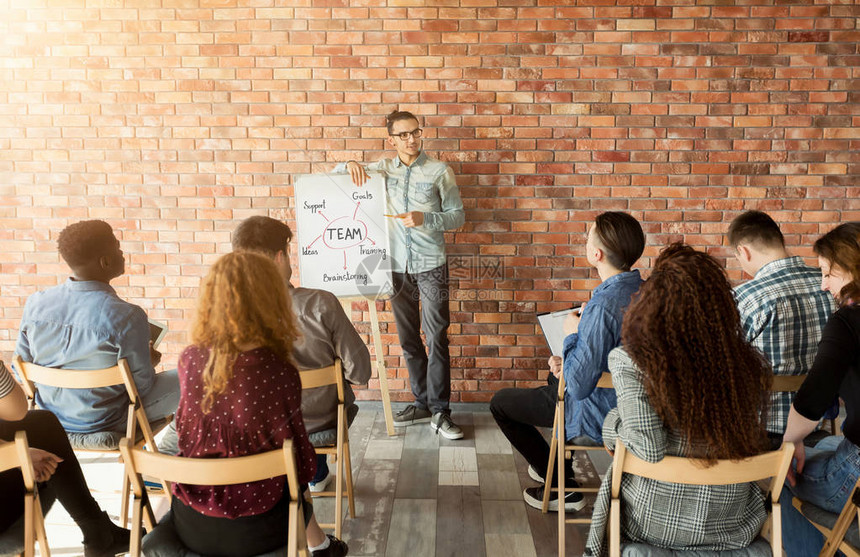
[[[782,538],[790,556],[818,555],[821,534],[791,505],[791,494],[832,513],[839,513],[860,476],[860,222],[837,226],[815,242],[821,266],[821,288],[836,298],[839,309],[821,336],[812,369],[788,415],[785,440],[795,444],[796,472],[783,490]],[[815,448],[803,439],[839,396],[845,402],[844,436],[821,440]]]

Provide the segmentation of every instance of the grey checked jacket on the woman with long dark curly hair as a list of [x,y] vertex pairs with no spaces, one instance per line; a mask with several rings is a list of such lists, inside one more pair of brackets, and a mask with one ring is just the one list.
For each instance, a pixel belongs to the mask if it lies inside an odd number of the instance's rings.
[[[609,354],[609,370],[618,407],[603,423],[606,446],[614,449],[615,441],[621,439],[630,452],[647,462],[690,454],[690,445],[663,426],[648,400],[640,371],[623,348]],[[605,538],[611,485],[610,467],[594,504],[585,555],[608,553]],[[622,542],[676,550],[746,547],[758,536],[767,518],[765,494],[755,483],[697,486],[624,475],[621,503]]]

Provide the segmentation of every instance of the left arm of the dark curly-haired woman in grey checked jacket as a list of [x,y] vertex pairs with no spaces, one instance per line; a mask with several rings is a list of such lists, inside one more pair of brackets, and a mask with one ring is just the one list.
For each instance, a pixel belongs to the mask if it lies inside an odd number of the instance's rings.
[[659,462],[666,456],[666,430],[663,420],[654,411],[641,374],[621,350],[609,356],[609,369],[618,397],[618,407],[606,415],[603,422],[603,442],[615,449],[621,439],[630,452],[646,462]]

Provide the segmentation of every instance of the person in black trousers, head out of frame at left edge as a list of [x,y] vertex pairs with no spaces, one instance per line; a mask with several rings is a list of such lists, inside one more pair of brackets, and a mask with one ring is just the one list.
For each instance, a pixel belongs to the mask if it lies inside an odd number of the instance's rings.
[[[99,508],[57,418],[45,410],[27,411],[21,386],[0,362],[0,439],[13,441],[25,431],[43,505],[56,497],[84,535],[86,557],[113,557],[128,551],[129,531]],[[46,483],[43,483],[46,482]],[[18,469],[0,473],[0,533],[24,515],[24,481]],[[22,530],[23,532],[23,530]]]

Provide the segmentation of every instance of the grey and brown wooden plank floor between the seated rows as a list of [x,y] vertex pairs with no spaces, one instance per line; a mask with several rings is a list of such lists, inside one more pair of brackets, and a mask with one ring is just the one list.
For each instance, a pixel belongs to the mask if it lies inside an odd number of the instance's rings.
[[[450,441],[429,424],[398,428],[389,437],[378,408],[363,406],[350,428],[357,517],[344,519],[343,538],[351,556],[557,555],[557,516],[523,501],[523,489],[536,484],[489,412],[455,410],[465,438]],[[577,455],[577,478],[596,484],[608,463],[603,451]],[[112,457],[83,466],[96,498],[116,519],[121,466]],[[314,508],[320,521],[334,521],[333,499],[317,499]],[[590,512],[591,505],[580,511]],[[47,524],[53,554],[81,554],[80,531],[60,505]],[[587,528],[568,525],[566,532],[567,555],[581,555]]]

